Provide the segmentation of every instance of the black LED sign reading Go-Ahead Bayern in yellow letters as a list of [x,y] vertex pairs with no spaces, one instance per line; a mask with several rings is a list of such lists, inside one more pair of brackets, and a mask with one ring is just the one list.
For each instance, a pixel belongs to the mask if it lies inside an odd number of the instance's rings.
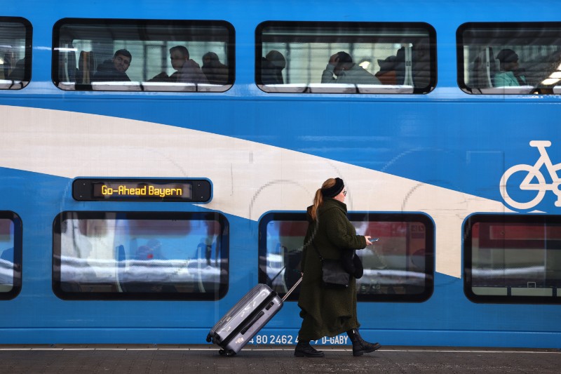
[[208,180],[86,179],[72,183],[77,201],[210,201]]

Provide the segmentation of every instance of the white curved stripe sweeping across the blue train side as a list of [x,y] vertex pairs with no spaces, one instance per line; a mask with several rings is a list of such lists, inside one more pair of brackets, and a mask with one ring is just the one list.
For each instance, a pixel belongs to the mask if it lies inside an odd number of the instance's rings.
[[458,278],[463,220],[473,212],[506,211],[497,201],[224,135],[94,114],[0,108],[1,167],[65,178],[209,178],[214,197],[205,207],[250,220],[267,211],[303,211],[325,179],[339,176],[349,191],[349,211],[431,215],[436,271]]

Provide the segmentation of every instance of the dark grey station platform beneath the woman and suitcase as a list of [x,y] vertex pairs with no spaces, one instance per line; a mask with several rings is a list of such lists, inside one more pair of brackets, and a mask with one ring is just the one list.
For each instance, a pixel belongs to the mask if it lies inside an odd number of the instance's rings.
[[0,373],[541,373],[561,370],[561,349],[381,347],[353,357],[349,346],[252,345],[220,356],[214,345],[0,345]]

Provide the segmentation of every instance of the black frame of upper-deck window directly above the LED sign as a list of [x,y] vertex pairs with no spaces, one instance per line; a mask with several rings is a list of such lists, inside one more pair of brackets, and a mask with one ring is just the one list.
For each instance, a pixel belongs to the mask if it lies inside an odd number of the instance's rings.
[[[198,86],[199,84],[180,84],[180,83],[168,83],[158,84],[158,82],[148,82],[148,81],[131,81],[131,82],[116,82],[114,86],[107,86],[100,84],[98,88],[95,88],[90,84],[74,84],[74,88],[65,88],[64,82],[58,80],[58,61],[60,53],[60,40],[61,40],[61,28],[68,25],[79,25],[79,26],[102,26],[110,25],[111,27],[137,27],[139,29],[144,29],[144,37],[150,36],[146,29],[149,27],[224,27],[228,34],[227,38],[227,67],[228,67],[228,81],[224,85],[214,85],[203,84],[203,86]],[[162,39],[165,41],[173,41],[171,34],[165,34],[168,39]],[[130,41],[145,41],[147,39],[130,39]],[[78,51],[76,49],[76,51]],[[113,51],[115,52],[115,51]],[[55,87],[62,91],[97,91],[97,92],[165,92],[165,93],[224,93],[228,91],[236,80],[236,30],[231,23],[224,20],[161,20],[161,19],[131,19],[131,18],[62,18],[55,22],[53,25],[53,47],[52,47],[52,61],[51,61],[51,81]],[[133,62],[135,56],[133,55]],[[102,61],[100,61],[101,63]],[[224,61],[226,62],[226,61]],[[98,65],[100,65],[98,63]],[[202,65],[200,65],[202,67]],[[102,83],[102,82],[100,82]],[[147,83],[154,83],[148,84]],[[61,85],[63,85],[61,87]],[[206,86],[205,86],[206,85]],[[160,87],[160,88],[158,88]],[[178,88],[173,90],[171,88]],[[199,90],[198,88],[203,88]]]

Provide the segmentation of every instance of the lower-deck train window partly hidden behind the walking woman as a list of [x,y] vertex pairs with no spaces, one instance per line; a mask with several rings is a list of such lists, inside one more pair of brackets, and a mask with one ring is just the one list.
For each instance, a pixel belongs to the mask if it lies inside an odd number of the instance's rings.
[[[365,268],[358,301],[421,302],[431,297],[434,225],[419,213],[349,213],[357,234],[379,241],[356,253]],[[283,295],[300,277],[306,213],[267,213],[259,221],[259,283]],[[297,300],[298,290],[288,300]]]

